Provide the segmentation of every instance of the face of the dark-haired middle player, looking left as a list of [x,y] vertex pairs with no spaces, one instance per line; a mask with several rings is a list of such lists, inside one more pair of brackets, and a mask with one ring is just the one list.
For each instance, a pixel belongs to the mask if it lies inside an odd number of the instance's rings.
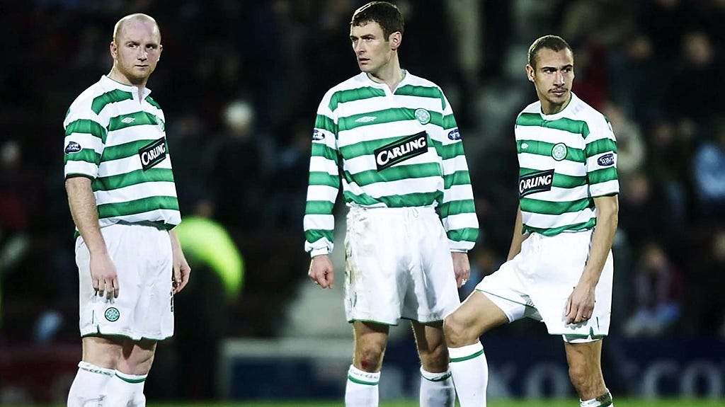
[[377,22],[350,27],[350,41],[357,58],[357,66],[363,72],[376,75],[392,59],[392,43],[385,38],[383,29]]

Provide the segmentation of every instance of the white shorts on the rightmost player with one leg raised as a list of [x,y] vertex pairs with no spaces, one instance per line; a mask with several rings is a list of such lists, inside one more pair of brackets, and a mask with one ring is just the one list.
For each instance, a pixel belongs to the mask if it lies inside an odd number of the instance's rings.
[[521,244],[521,253],[484,277],[476,290],[485,293],[509,322],[524,317],[543,321],[551,335],[562,335],[569,343],[605,337],[612,313],[611,251],[595,289],[596,303],[589,321],[566,324],[564,316],[566,300],[584,271],[591,238],[591,230],[550,237],[532,233]]

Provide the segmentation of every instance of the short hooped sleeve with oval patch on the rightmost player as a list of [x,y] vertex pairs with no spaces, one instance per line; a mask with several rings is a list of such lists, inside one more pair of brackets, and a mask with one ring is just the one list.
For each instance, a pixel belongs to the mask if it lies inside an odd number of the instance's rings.
[[589,125],[589,134],[584,138],[589,194],[593,198],[616,195],[619,193],[617,141],[612,125],[605,117]]

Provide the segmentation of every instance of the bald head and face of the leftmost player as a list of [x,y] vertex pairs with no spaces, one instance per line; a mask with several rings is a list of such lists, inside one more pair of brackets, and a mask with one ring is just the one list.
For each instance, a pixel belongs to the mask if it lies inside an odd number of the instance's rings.
[[119,30],[111,43],[113,68],[122,82],[128,85],[146,85],[156,69],[162,51],[161,35],[153,22],[130,20]]

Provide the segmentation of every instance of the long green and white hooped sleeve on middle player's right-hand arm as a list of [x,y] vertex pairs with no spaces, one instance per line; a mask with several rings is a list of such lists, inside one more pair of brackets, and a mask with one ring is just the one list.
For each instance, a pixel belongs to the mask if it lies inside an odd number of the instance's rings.
[[463,140],[453,110],[441,91],[442,122],[431,134],[442,161],[443,199],[439,206],[441,222],[451,251],[468,251],[479,237],[479,220],[473,204],[473,188]]

